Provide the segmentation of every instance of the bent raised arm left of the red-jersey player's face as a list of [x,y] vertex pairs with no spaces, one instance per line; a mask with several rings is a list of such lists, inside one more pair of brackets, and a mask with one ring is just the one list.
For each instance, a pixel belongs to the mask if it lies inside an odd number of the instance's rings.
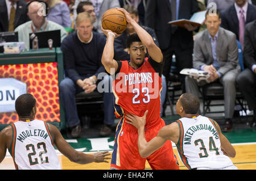
[[[105,30],[104,28],[102,28],[102,26],[101,26],[101,30],[107,37],[106,44],[101,57],[101,63],[102,65],[104,65],[108,73],[114,74],[118,68],[117,61],[113,59],[114,58],[114,39],[118,35],[117,33],[114,33],[111,30]],[[114,68],[113,72],[110,72],[111,68]]]

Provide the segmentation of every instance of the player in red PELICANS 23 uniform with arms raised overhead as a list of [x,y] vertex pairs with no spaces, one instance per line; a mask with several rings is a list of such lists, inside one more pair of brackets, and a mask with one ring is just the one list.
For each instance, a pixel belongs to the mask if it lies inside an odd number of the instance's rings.
[[[115,61],[114,38],[118,35],[101,28],[107,36],[101,61],[106,71],[115,75],[112,83],[115,104],[117,104],[115,115],[121,117],[115,132],[111,169],[142,170],[145,168],[146,160],[152,169],[179,169],[171,141],[166,142],[161,149],[149,157],[141,158],[137,144],[137,129],[126,123],[126,113],[143,116],[148,110],[145,125],[147,141],[155,137],[164,127],[165,123],[160,118],[163,54],[152,37],[131,18],[126,10],[117,9],[125,14],[127,23],[137,33],[127,38],[130,60]],[[146,50],[149,58],[145,58]]]

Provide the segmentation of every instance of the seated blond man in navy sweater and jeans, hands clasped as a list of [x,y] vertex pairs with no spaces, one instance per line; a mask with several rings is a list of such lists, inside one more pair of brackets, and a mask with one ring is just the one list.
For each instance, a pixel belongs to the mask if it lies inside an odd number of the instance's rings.
[[[89,93],[96,89],[98,75],[105,73],[101,64],[101,56],[106,38],[93,30],[93,18],[87,12],[77,15],[77,31],[69,34],[61,43],[63,51],[65,75],[60,82],[60,100],[65,109],[67,127],[71,129],[72,137],[80,137],[81,125],[77,114],[76,94],[82,91]],[[111,89],[110,76],[104,77]],[[107,85],[107,84],[104,84]],[[105,87],[104,87],[105,89]],[[112,133],[114,124],[114,95],[104,92],[104,127],[100,135],[108,136]]]

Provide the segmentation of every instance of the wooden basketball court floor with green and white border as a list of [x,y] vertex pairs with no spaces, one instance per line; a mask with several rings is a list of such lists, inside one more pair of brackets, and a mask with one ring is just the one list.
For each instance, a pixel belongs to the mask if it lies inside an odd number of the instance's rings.
[[[223,109],[223,108],[221,108]],[[174,110],[175,111],[175,110]],[[214,113],[206,115],[208,117],[212,117],[214,120],[220,124],[224,123],[223,114],[222,113]],[[170,107],[167,107],[166,117],[163,117],[166,124],[172,123],[172,121],[179,119],[178,115],[172,115],[170,111]],[[236,157],[232,158],[234,165],[238,167],[240,170],[256,170],[256,128],[250,128],[249,125],[246,124],[247,121],[251,120],[251,116],[246,117],[237,117],[233,122],[233,131],[229,133],[224,133],[224,135],[228,138],[231,144],[236,149]],[[118,123],[118,120],[115,120]],[[91,123],[92,124],[92,123]],[[112,153],[113,145],[114,145],[114,135],[109,137],[98,137],[95,132],[99,131],[99,128],[94,129],[84,129],[84,136],[77,139],[69,138],[66,134],[64,134],[64,138],[69,142],[73,148],[76,150],[93,154],[96,151],[110,151]],[[91,133],[91,134],[90,134]],[[180,169],[187,170],[187,168],[180,161],[179,154],[177,154],[176,145],[173,144],[174,153],[177,155]],[[68,160],[68,158],[64,157],[58,150],[57,154],[61,163],[61,168],[64,170],[109,170],[110,169],[110,160],[109,163],[89,163],[87,165],[80,165],[73,163]],[[110,156],[111,157],[111,156]],[[13,158],[10,157],[9,152],[7,151],[6,158],[0,163],[0,170],[13,170],[15,169]],[[146,163],[146,170],[150,170],[150,166]]]

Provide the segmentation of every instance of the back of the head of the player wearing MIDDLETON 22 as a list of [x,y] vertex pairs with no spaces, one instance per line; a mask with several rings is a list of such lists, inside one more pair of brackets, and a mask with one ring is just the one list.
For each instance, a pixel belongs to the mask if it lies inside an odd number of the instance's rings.
[[36,99],[31,94],[22,94],[15,101],[15,110],[19,117],[30,116]]

